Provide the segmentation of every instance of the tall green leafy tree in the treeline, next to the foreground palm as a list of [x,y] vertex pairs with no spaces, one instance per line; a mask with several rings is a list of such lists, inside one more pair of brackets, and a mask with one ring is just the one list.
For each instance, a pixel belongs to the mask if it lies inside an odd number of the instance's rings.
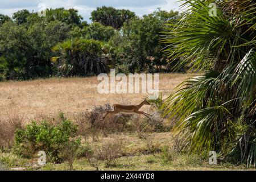
[[134,17],[123,24],[121,33],[115,35],[110,43],[117,48],[117,64],[127,67],[131,72],[161,71],[167,59],[163,57],[159,44],[164,23],[174,22],[177,11],[158,10],[142,18]]

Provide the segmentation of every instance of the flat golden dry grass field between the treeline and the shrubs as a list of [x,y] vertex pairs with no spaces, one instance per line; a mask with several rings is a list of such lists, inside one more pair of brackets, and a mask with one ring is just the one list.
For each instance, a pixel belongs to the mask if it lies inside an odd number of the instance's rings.
[[[164,96],[192,75],[160,74],[159,89]],[[97,77],[50,78],[34,81],[0,82],[0,115],[19,113],[26,119],[52,117],[60,111],[72,117],[106,103],[139,104],[144,94],[99,94]]]

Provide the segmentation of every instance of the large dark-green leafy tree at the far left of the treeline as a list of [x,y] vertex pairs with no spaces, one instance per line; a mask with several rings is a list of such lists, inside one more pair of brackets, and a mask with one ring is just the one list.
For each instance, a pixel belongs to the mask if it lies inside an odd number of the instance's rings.
[[6,22],[0,27],[0,75],[29,79],[51,75],[51,48],[68,37],[62,22],[26,24]]

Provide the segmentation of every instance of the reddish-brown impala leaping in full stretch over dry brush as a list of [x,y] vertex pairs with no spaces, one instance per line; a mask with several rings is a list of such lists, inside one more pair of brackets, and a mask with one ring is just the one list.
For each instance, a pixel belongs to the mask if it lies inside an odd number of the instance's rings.
[[106,114],[104,115],[104,117],[101,119],[101,121],[103,119],[105,119],[105,117],[108,114],[118,114],[118,113],[137,113],[137,114],[143,114],[144,116],[146,116],[147,118],[150,118],[151,115],[144,113],[143,111],[139,111],[139,109],[141,109],[141,107],[143,105],[150,105],[146,100],[143,100],[141,102],[141,104],[139,105],[121,105],[121,104],[114,104],[113,105],[113,111],[106,111]]

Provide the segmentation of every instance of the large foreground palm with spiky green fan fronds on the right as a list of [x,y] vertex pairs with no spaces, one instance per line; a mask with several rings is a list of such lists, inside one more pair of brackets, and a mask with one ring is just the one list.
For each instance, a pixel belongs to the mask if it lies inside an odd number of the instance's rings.
[[190,152],[217,151],[256,164],[256,3],[253,0],[184,1],[187,13],[162,40],[175,68],[203,74],[182,82],[162,105],[176,118]]

